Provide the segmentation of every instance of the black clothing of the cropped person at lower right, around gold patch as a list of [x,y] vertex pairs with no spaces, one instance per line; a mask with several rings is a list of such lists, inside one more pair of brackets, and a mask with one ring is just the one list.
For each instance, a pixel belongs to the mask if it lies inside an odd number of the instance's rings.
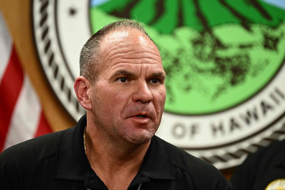
[[277,179],[285,179],[285,140],[250,154],[236,169],[231,182],[237,190],[260,190]]

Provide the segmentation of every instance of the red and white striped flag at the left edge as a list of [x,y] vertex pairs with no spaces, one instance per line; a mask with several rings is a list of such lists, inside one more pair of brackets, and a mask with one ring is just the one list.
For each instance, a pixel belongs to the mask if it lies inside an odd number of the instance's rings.
[[0,12],[0,152],[50,132]]

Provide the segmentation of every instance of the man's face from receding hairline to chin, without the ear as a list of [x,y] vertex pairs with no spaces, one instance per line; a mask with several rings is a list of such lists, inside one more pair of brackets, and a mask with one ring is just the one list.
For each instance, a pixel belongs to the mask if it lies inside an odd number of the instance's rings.
[[115,140],[149,142],[166,98],[159,50],[133,29],[107,34],[100,50],[104,66],[90,91],[95,125]]

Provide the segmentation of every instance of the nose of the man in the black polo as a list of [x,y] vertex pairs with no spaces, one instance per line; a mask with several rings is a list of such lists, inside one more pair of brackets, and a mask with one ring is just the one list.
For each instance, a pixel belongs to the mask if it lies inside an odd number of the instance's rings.
[[136,87],[132,96],[134,102],[146,103],[152,101],[153,96],[146,82],[139,83]]

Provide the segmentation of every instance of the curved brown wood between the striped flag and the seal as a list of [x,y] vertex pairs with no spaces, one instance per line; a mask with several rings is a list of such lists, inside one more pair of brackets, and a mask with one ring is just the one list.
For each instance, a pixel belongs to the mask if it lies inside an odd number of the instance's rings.
[[1,0],[0,11],[14,40],[23,69],[37,91],[52,130],[58,131],[74,126],[76,122],[58,101],[39,63],[33,39],[31,0]]

